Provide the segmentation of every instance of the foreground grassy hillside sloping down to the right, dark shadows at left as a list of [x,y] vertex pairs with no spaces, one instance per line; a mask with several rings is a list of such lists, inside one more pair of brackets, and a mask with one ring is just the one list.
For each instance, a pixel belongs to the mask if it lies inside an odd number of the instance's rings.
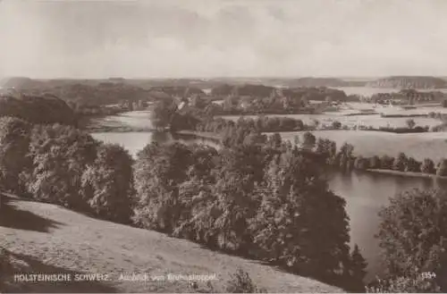
[[[340,292],[318,281],[283,273],[270,266],[201,248],[184,239],[77,214],[59,206],[13,198],[2,207],[0,246],[31,265],[36,273],[108,273],[112,282],[27,283],[39,292],[175,292],[184,282],[116,281],[122,272],[216,273],[215,290],[228,273],[246,270],[258,285],[274,292]],[[16,285],[17,286],[17,285]]]

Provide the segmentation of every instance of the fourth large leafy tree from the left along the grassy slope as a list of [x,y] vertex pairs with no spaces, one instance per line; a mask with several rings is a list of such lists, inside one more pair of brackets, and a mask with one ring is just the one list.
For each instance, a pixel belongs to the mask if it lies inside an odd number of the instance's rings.
[[180,143],[152,143],[137,156],[133,220],[142,227],[171,233],[180,215],[179,185],[187,180],[191,151]]

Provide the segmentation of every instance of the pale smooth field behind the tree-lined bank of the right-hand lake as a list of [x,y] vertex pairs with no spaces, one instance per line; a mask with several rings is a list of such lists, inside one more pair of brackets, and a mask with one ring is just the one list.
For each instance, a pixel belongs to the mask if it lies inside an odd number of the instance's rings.
[[[303,132],[282,132],[283,139],[293,142],[296,135]],[[398,155],[404,152],[421,161],[428,157],[438,162],[447,158],[447,132],[426,132],[416,134],[394,134],[372,130],[318,130],[316,138],[332,139],[341,147],[344,142],[354,146],[356,155]]]

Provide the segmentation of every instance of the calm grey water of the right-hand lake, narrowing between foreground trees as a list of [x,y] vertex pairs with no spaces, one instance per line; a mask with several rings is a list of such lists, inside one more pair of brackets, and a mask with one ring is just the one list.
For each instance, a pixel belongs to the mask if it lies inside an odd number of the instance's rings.
[[374,278],[375,273],[381,272],[378,242],[374,235],[380,222],[377,213],[388,204],[389,197],[409,189],[447,189],[447,183],[374,172],[333,172],[329,176],[329,187],[347,201],[351,243],[357,243],[363,256],[367,258],[367,279],[370,279]]

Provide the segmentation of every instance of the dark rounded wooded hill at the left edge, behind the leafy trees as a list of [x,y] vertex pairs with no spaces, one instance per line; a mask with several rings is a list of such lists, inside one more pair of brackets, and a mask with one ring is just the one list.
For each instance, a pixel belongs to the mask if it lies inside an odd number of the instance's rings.
[[33,123],[76,124],[76,116],[63,100],[52,95],[0,96],[0,116],[13,116]]

